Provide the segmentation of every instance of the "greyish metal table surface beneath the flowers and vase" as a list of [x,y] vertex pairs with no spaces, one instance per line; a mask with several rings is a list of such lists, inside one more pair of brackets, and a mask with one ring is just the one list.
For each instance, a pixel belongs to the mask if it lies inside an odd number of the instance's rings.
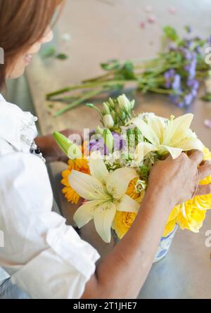
[[[211,4],[209,0],[151,0],[155,24],[139,26],[148,18],[145,0],[68,0],[56,29],[55,44],[58,52],[68,53],[68,60],[43,60],[34,58],[27,69],[34,106],[43,134],[65,128],[83,129],[96,126],[98,114],[94,110],[79,106],[65,115],[54,118],[52,109],[44,101],[47,92],[81,82],[100,75],[99,63],[109,58],[151,58],[160,50],[160,35],[164,25],[172,25],[183,31],[184,25],[191,25],[196,34],[206,37],[211,31]],[[170,14],[175,6],[177,13]],[[70,34],[70,42],[62,34]],[[102,98],[98,100],[100,104]],[[60,108],[56,104],[56,108]],[[172,105],[164,96],[136,95],[136,112],[154,112],[169,117],[186,112],[195,114],[193,129],[205,145],[211,148],[210,134],[203,121],[211,118],[211,104],[199,99],[184,110]],[[53,187],[60,201],[60,207],[68,224],[76,207],[66,203],[61,195],[60,172],[66,166],[56,163],[51,166]],[[205,246],[205,232],[211,229],[211,212],[207,214],[200,234],[177,231],[170,253],[154,264],[139,298],[211,298],[211,248]],[[114,243],[102,243],[92,223],[82,229],[82,238],[94,245],[102,256],[113,248]],[[141,262],[141,260],[140,260]],[[134,271],[135,273],[135,271]]]

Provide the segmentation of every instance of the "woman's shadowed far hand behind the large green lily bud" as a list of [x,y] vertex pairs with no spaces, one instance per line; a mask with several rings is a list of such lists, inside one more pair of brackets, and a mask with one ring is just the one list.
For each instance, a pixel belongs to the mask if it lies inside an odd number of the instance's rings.
[[[60,133],[67,138],[70,135],[79,135],[82,138],[82,134],[74,129],[65,129]],[[37,137],[35,142],[47,162],[68,162],[68,157],[60,150],[53,135]]]

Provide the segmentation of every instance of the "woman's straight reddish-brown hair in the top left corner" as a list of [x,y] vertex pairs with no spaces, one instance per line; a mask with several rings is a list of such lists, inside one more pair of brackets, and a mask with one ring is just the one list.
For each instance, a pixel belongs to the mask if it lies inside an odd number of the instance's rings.
[[[0,90],[15,58],[39,41],[63,0],[0,0]],[[0,51],[0,53],[1,53]]]

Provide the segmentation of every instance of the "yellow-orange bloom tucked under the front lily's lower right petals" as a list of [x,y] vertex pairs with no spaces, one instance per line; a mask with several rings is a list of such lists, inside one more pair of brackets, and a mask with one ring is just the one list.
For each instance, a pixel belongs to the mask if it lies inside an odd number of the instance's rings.
[[127,234],[127,231],[129,231],[129,229],[131,228],[136,218],[136,215],[136,213],[132,212],[117,211],[113,222],[113,229],[120,239],[122,239],[124,235]]

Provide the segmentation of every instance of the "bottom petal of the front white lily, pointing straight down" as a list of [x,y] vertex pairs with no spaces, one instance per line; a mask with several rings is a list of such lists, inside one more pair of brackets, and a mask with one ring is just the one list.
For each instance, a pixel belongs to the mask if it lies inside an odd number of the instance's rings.
[[104,203],[101,209],[96,210],[94,214],[94,225],[97,233],[103,241],[110,243],[110,229],[116,214],[116,206],[110,203]]

